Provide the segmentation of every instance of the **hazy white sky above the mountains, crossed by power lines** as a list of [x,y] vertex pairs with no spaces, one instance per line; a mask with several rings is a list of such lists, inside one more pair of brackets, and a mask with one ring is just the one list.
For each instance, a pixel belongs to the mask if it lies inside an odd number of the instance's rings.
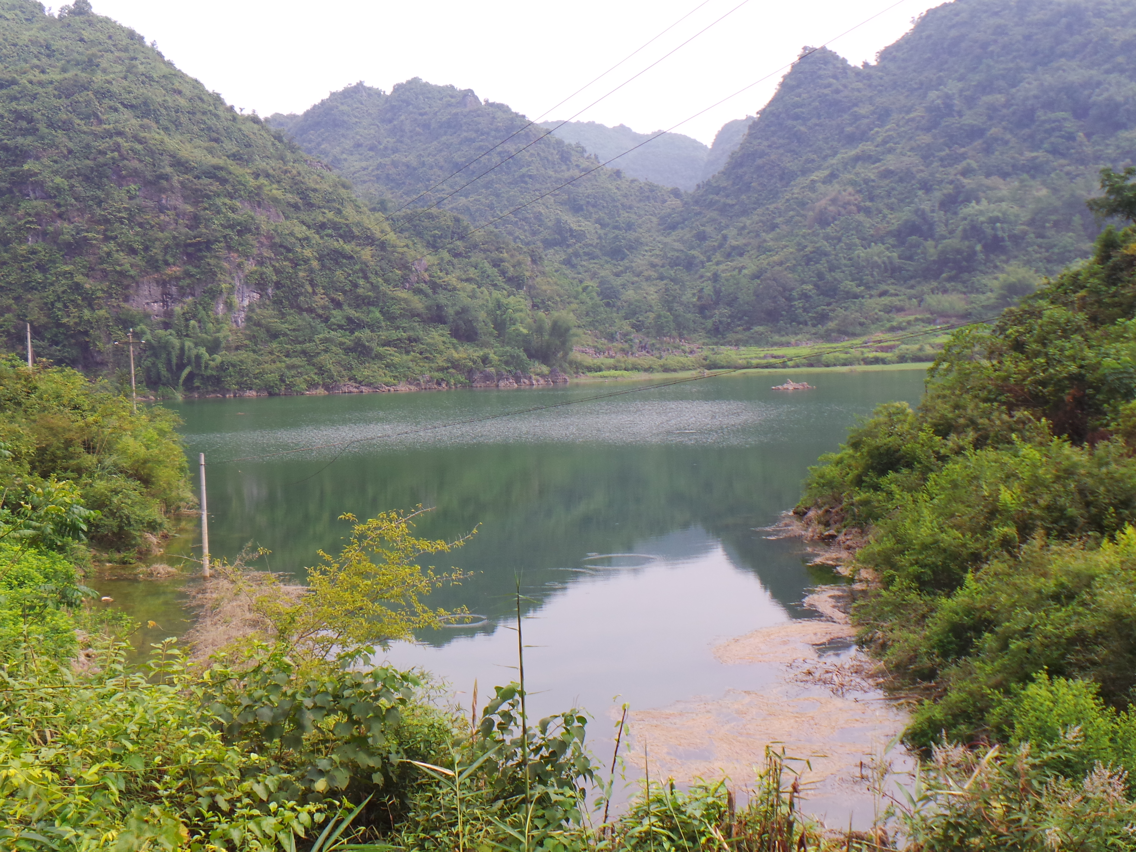
[[[532,118],[546,111],[545,118],[568,118],[729,12],[577,118],[640,132],[669,128],[771,74],[676,130],[708,144],[724,123],[761,108],[780,80],[778,69],[802,45],[830,42],[852,62],[874,61],[914,17],[938,5],[901,0],[830,41],[895,0],[747,0],[735,8],[740,2],[93,0],[95,12],[157,41],[184,72],[229,103],[260,115],[303,111],[360,80],[389,91],[421,77],[473,89]],[[556,107],[695,8],[613,73]]]

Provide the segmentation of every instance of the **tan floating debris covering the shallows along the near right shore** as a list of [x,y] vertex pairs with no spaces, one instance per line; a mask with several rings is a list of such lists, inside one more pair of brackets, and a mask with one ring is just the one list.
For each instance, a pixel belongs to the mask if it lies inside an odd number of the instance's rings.
[[[825,543],[809,525],[786,512],[762,529],[769,538],[797,538],[812,565],[849,575],[854,546]],[[872,825],[882,777],[913,771],[914,759],[894,747],[907,726],[902,701],[887,696],[874,660],[855,646],[850,611],[863,584],[813,587],[803,599],[817,618],[759,627],[713,645],[716,660],[738,666],[738,684],[718,696],[691,696],[661,708],[633,711],[644,771],[678,783],[726,778],[744,791],[766,760],[767,747],[783,751],[797,772],[802,808],[833,826]],[[747,687],[758,677],[762,685]],[[830,826],[830,827],[833,827]]]

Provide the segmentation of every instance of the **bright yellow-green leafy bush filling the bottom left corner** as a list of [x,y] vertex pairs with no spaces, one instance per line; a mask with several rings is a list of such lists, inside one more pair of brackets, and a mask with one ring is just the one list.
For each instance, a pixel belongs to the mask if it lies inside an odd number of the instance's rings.
[[170,644],[135,669],[106,643],[75,674],[15,653],[0,663],[0,837],[11,849],[294,852],[337,813],[298,804],[292,779],[225,743],[202,683]]

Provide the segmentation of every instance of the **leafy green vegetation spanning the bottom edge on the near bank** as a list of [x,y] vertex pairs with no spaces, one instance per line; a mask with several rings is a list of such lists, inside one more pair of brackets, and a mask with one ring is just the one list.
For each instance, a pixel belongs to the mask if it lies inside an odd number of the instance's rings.
[[[406,517],[387,513],[358,525],[356,538],[391,537],[398,562],[408,529]],[[1136,549],[1136,533],[1118,546]],[[349,562],[352,548],[328,562]],[[16,629],[0,617],[3,850],[894,847],[883,827],[826,835],[799,810],[788,759],[771,751],[741,809],[726,782],[685,791],[667,782],[644,785],[609,820],[615,776],[604,777],[588,752],[580,711],[534,721],[523,684],[509,684],[495,687],[479,718],[466,719],[434,703],[418,674],[369,662],[370,648],[332,659],[318,643],[277,632],[272,643],[239,638],[208,662],[169,640],[139,665],[127,662],[128,645],[98,634],[73,659],[67,613],[81,615],[84,593],[74,570],[57,554],[9,544],[0,559],[8,560],[0,593],[20,616]],[[258,590],[245,585],[236,595]],[[358,595],[365,604],[366,592]],[[281,603],[267,598],[262,615]],[[350,636],[359,607],[345,603],[320,605],[328,627]],[[418,605],[403,609],[404,618],[425,617]],[[1136,805],[1124,775],[1101,761],[1128,758],[1136,724],[1083,680],[1044,678],[1013,700],[1013,757],[939,749],[908,801],[892,809],[914,841],[911,852],[1128,838]]]

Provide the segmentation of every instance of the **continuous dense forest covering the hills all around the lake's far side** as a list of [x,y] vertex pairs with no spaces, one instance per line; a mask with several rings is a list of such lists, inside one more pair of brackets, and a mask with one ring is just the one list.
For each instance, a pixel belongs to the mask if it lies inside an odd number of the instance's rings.
[[115,371],[133,327],[174,392],[993,315],[1089,253],[1083,199],[1136,141],[1119,0],[955,0],[875,65],[805,52],[693,193],[417,78],[261,122],[85,3],[0,0],[0,331]]

